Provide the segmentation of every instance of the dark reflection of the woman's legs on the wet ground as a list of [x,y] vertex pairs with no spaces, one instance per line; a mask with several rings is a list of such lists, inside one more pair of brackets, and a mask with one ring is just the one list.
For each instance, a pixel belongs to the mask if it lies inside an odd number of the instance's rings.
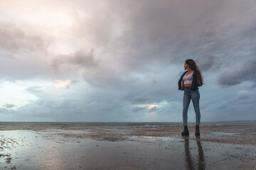
[[[183,137],[185,141],[185,157],[186,157],[186,167],[187,169],[193,170],[196,169],[195,164],[193,163],[193,157],[191,157],[191,152],[189,149],[189,137]],[[204,170],[206,169],[205,160],[203,156],[203,147],[201,145],[200,136],[196,137],[196,144],[198,146],[198,170]]]

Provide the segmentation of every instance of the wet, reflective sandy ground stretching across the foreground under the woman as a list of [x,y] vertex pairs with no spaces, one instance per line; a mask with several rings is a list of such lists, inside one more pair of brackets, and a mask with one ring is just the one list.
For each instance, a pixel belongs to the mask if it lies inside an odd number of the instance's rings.
[[256,169],[256,125],[1,130],[0,169]]

